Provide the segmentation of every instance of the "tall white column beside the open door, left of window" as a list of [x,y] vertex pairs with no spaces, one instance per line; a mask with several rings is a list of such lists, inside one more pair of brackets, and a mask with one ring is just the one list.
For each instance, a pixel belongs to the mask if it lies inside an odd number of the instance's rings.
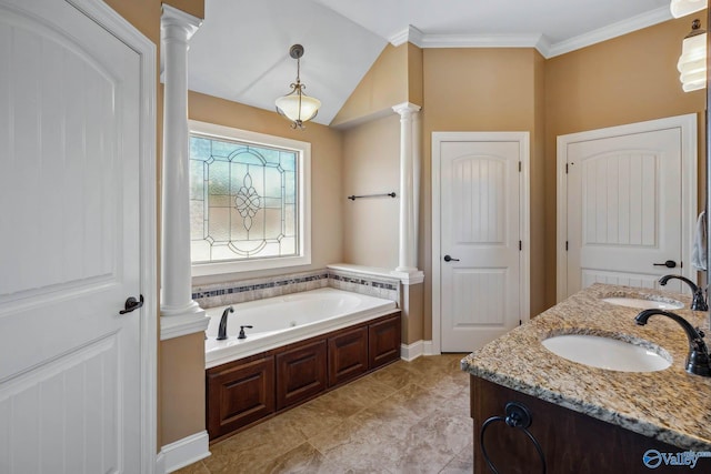
[[[161,316],[183,316],[203,323],[204,312],[192,301],[190,273],[190,188],[188,125],[188,40],[202,20],[163,4],[163,171],[161,239]],[[161,325],[166,317],[161,317]],[[174,324],[174,321],[171,321]],[[171,325],[172,325],[171,324]],[[193,327],[198,329],[198,327]],[[193,331],[181,332],[190,333]],[[172,336],[181,335],[176,333]],[[161,339],[163,331],[161,331]]]

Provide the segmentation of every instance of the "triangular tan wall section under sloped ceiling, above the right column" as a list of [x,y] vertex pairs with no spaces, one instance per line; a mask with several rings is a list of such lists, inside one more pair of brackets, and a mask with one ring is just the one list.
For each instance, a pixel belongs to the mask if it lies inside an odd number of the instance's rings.
[[392,105],[408,101],[409,44],[388,44],[331,121],[346,125],[388,113]]

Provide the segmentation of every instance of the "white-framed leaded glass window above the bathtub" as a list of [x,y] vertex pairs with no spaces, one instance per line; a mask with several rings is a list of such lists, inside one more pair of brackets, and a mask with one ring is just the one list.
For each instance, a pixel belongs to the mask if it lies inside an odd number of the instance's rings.
[[190,124],[192,274],[311,263],[310,144]]

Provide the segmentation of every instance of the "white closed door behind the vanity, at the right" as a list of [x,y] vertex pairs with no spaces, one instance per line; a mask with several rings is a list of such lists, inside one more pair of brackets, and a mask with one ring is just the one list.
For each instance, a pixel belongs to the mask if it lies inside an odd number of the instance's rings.
[[[683,131],[665,121],[641,125],[592,138],[577,134],[563,142],[568,165],[563,296],[595,282],[655,288],[661,275],[689,275],[684,241],[690,240],[692,219],[684,216],[693,215],[689,208],[695,209],[695,193],[689,205],[691,198],[684,199],[683,192]],[[668,288],[679,289],[679,282]]]

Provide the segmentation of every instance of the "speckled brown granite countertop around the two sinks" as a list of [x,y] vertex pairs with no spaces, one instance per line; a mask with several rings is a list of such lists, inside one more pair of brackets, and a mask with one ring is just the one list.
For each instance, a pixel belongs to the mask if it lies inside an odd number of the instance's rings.
[[[462,370],[499,385],[584,413],[683,450],[711,451],[711,377],[684,370],[687,334],[669,317],[634,323],[640,310],[602,301],[610,296],[671,297],[674,313],[708,331],[708,314],[688,310],[691,297],[671,292],[594,284],[464,357]],[[561,333],[649,341],[673,357],[658,372],[617,372],[562,359],[541,341]],[[711,345],[711,337],[707,336]]]

